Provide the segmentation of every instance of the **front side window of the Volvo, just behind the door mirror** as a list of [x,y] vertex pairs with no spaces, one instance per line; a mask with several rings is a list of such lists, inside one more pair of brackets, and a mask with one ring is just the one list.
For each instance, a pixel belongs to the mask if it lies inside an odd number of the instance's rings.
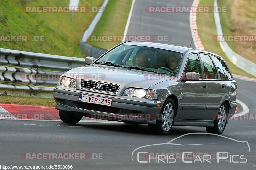
[[202,69],[201,69],[200,60],[197,54],[191,54],[188,57],[188,62],[184,72],[186,74],[189,71],[199,73],[200,79],[202,79]]

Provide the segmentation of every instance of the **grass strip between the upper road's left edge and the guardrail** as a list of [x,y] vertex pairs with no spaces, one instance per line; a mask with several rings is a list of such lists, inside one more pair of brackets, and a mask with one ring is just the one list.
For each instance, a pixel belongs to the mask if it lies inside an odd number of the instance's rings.
[[[110,0],[92,35],[123,35],[131,4],[132,0]],[[108,50],[121,41],[88,43]]]

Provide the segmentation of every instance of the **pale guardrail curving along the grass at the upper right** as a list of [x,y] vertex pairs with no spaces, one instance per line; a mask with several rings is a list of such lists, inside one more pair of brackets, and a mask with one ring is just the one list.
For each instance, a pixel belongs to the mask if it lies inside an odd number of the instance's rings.
[[[214,1],[214,7],[217,8],[217,0]],[[220,24],[220,15],[218,12],[214,12],[214,19],[217,28],[217,35],[223,35],[222,27]],[[245,72],[256,76],[256,64],[245,59],[239,54],[235,53],[227,44],[227,42],[220,42],[220,47],[228,57],[228,59],[237,67],[243,69]]]

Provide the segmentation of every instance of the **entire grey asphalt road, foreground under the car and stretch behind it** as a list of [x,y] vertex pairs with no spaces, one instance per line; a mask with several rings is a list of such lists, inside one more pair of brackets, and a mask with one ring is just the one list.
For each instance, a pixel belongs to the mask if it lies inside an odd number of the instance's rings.
[[[171,3],[171,4],[168,4]],[[191,5],[192,0],[161,1],[156,4],[153,0],[137,0],[134,6],[128,35],[172,35],[170,44],[188,46],[192,39],[189,28],[189,14],[151,14],[143,12],[145,6],[155,5]],[[177,31],[179,30],[179,31]],[[244,102],[250,109],[249,113],[256,112],[255,99],[256,84],[243,80],[238,83],[237,99]],[[73,169],[256,169],[256,121],[233,120],[230,121],[222,136],[190,135],[175,140],[177,144],[187,145],[161,145],[153,148],[143,148],[140,151],[150,153],[211,153],[225,151],[232,155],[244,155],[247,163],[233,163],[232,156],[227,159],[212,159],[211,163],[184,163],[177,159],[175,163],[139,163],[132,152],[141,146],[167,143],[187,133],[205,133],[204,127],[173,127],[172,132],[166,136],[156,136],[148,131],[147,125],[129,125],[124,123],[94,123],[81,122],[70,126],[60,121],[0,121],[0,160],[1,166],[49,166],[72,165]],[[205,145],[192,145],[205,144]],[[28,160],[22,157],[24,153],[88,153],[87,160]],[[102,159],[92,159],[92,155],[100,154]],[[143,156],[143,155],[142,155]],[[214,156],[213,156],[214,157]],[[233,161],[244,161],[242,159]],[[142,160],[143,158],[139,158]],[[231,161],[231,163],[230,163]]]

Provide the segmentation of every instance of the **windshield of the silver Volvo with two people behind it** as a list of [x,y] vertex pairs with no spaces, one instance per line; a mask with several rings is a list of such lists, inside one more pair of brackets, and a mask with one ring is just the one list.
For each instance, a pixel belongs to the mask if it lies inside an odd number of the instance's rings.
[[111,50],[95,63],[176,74],[182,54],[145,46],[121,45]]

